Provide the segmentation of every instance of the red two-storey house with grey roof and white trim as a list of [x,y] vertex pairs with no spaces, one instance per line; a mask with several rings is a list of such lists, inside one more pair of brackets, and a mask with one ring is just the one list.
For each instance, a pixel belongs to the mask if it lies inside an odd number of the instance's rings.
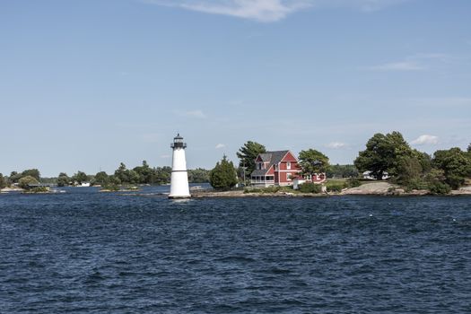
[[260,153],[250,183],[257,187],[292,186],[292,179],[301,176],[298,159],[290,151]]

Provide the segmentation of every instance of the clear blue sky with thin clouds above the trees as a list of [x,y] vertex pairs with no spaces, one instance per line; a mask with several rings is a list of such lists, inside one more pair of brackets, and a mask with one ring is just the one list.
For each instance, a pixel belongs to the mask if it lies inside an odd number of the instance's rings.
[[2,0],[0,172],[471,142],[467,0]]

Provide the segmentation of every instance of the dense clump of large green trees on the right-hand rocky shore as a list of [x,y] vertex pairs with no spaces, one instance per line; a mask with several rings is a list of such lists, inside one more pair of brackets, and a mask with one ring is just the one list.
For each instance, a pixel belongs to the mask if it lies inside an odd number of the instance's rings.
[[451,188],[465,185],[471,176],[471,144],[466,152],[453,147],[429,155],[411,148],[399,132],[378,133],[359,153],[354,165],[360,171],[371,171],[376,179],[388,173],[392,181],[409,190],[447,194]]

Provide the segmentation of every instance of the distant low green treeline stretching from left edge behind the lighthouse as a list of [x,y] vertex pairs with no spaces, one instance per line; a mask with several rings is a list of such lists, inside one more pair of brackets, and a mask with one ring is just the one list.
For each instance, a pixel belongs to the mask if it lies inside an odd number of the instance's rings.
[[[100,171],[90,175],[79,170],[70,177],[65,172],[61,172],[57,178],[41,178],[37,169],[24,170],[21,173],[13,171],[10,176],[5,177],[0,173],[0,187],[5,188],[12,185],[25,187],[28,184],[37,184],[39,182],[57,184],[58,187],[82,185],[85,182],[89,182],[92,186],[162,185],[170,183],[170,176],[171,168],[168,166],[150,167],[147,161],[143,161],[142,165],[127,169],[126,165],[121,162],[113,174]],[[209,182],[209,170],[201,168],[188,170],[188,181],[190,183]]]

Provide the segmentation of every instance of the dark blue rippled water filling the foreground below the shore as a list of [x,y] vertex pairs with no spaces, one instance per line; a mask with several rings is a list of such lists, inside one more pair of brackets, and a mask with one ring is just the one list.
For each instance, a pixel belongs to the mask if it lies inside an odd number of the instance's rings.
[[471,312],[471,197],[167,189],[0,195],[0,312]]

